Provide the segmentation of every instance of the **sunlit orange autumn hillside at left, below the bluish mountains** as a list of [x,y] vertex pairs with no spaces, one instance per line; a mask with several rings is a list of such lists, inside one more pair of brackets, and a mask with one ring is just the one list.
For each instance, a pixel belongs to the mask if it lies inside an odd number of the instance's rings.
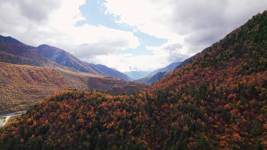
[[53,69],[0,63],[0,110],[26,110],[47,95],[70,88]]

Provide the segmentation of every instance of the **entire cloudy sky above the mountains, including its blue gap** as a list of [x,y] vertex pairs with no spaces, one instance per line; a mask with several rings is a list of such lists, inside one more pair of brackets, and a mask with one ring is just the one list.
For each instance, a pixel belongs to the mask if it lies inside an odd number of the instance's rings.
[[153,71],[265,9],[267,0],[1,0],[0,35],[121,72]]

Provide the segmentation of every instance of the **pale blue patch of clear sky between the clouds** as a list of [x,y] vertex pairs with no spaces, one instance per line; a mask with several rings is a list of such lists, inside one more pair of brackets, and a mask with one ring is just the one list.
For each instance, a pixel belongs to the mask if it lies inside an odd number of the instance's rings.
[[165,38],[156,38],[140,31],[134,31],[134,27],[127,24],[116,23],[115,16],[105,13],[103,2],[105,0],[87,0],[85,4],[80,6],[80,10],[86,20],[76,23],[76,26],[89,24],[93,26],[105,26],[107,28],[133,32],[134,36],[139,38],[140,45],[135,49],[118,50],[118,54],[132,53],[134,56],[138,55],[153,55],[151,50],[147,50],[145,46],[160,46],[167,42]]

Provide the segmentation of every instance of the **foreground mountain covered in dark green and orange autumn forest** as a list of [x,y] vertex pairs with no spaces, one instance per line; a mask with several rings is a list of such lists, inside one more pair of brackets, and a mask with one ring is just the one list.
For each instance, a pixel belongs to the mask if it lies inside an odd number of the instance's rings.
[[66,90],[0,129],[2,150],[266,150],[267,11],[134,95]]

